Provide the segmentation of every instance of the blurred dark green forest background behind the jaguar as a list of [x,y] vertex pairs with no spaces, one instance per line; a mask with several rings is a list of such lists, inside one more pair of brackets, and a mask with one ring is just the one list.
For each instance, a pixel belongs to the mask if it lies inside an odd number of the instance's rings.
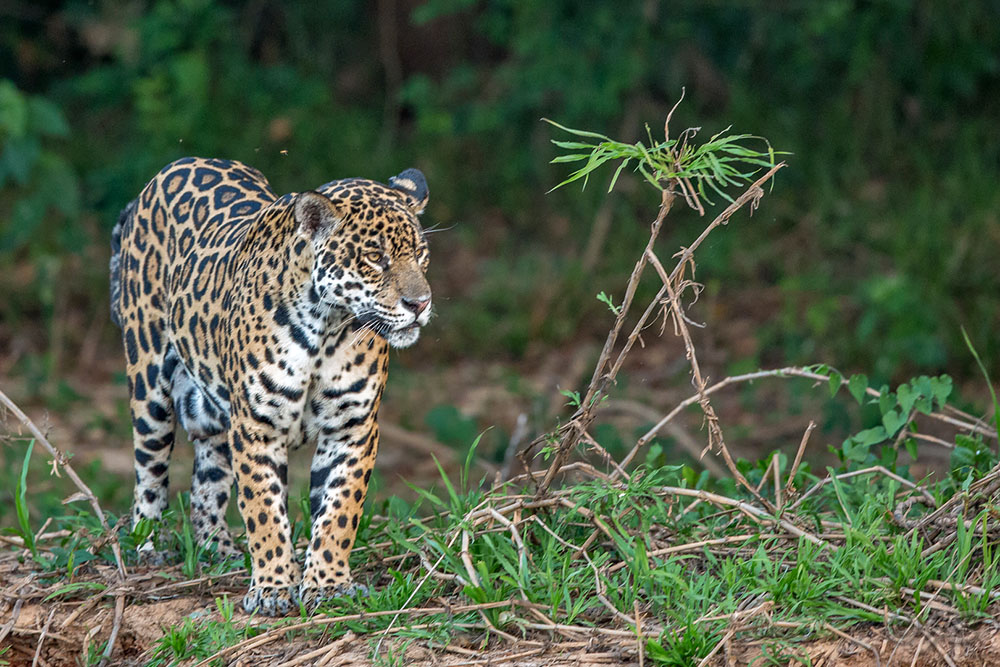
[[[695,316],[728,350],[714,377],[976,378],[962,326],[1000,358],[997,2],[6,0],[0,18],[0,379],[52,412],[112,384],[122,445],[108,238],[168,161],[243,160],[279,193],[419,167],[438,317],[394,355],[397,391],[497,362],[513,370],[457,386],[516,393],[517,369],[602,340],[594,295],[620,296],[657,204],[634,178],[546,194],[566,137],[540,119],[637,140],[682,90],[675,131],[791,153],[760,211],[699,251]],[[705,223],[675,210],[661,256]],[[410,425],[441,442],[477,431],[426,408]]]

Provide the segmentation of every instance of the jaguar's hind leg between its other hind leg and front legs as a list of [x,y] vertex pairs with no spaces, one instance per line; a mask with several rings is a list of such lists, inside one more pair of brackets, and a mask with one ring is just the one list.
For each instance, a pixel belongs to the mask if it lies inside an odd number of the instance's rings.
[[201,545],[215,545],[222,558],[242,558],[226,525],[233,488],[233,462],[226,433],[194,440],[191,480],[191,524]]

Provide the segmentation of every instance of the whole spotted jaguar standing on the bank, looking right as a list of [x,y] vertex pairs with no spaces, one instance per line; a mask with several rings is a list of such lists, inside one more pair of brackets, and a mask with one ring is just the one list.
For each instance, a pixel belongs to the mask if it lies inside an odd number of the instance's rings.
[[[378,450],[389,346],[430,317],[423,174],[275,197],[239,162],[186,158],[122,212],[112,318],[122,328],[135,446],[133,520],[167,506],[176,422],[195,447],[197,537],[238,553],[235,473],[253,562],[248,612],[287,613],[356,587],[348,567]],[[287,510],[289,447],[316,448],[304,570]]]

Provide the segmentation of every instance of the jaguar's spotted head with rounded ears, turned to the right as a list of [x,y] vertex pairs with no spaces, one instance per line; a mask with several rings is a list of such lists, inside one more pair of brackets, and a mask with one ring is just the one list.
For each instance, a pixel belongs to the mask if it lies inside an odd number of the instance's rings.
[[418,216],[427,181],[416,169],[389,179],[333,181],[294,203],[299,234],[313,249],[319,298],[349,311],[393,347],[408,347],[431,316],[424,272],[430,256]]

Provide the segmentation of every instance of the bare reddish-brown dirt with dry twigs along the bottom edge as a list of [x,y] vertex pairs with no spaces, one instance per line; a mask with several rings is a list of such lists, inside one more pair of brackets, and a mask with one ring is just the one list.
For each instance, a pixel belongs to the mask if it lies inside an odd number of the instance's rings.
[[[216,591],[217,592],[217,591]],[[100,604],[80,612],[78,602],[69,604],[28,602],[15,609],[10,603],[0,605],[0,647],[10,650],[0,659],[13,667],[37,664],[44,667],[68,667],[86,664],[82,655],[88,645],[106,640],[111,631],[114,609]],[[211,597],[189,595],[144,604],[127,604],[118,635],[115,665],[143,665],[150,659],[150,648],[162,634],[162,628],[175,626],[186,618],[217,616]],[[237,622],[247,617],[236,614]],[[13,623],[13,624],[11,624]],[[338,639],[313,638],[289,642],[272,641],[251,650],[225,656],[225,664],[271,667],[277,665],[367,666],[373,664],[442,665],[521,665],[524,667],[562,667],[569,665],[644,665],[654,664],[638,655],[635,640],[608,640],[605,637],[560,637],[528,635],[517,641],[493,641],[460,635],[448,646],[424,646],[414,642],[404,646],[389,638],[381,648],[381,662],[372,661],[377,635],[348,634]],[[768,661],[761,654],[760,640],[742,639],[736,634],[704,663],[719,667],[750,664],[811,664],[814,667],[861,667],[863,665],[984,666],[1000,664],[1000,633],[992,624],[975,629],[894,628],[858,626],[844,636],[788,643],[783,655]],[[388,653],[401,659],[386,662]],[[37,660],[36,660],[37,655]],[[793,656],[799,656],[796,661]],[[808,660],[808,662],[801,662]],[[196,663],[190,663],[196,664]]]

